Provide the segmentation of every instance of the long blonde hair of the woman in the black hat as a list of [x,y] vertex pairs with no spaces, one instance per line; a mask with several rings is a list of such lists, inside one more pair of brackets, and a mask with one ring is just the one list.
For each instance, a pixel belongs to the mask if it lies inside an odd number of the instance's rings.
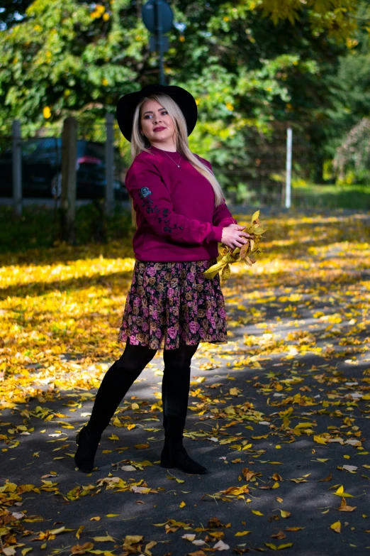
[[[132,161],[135,160],[135,157],[138,156],[138,154],[142,153],[142,151],[150,153],[149,151],[150,141],[145,136],[141,135],[139,126],[140,126],[140,114],[141,114],[142,105],[147,100],[151,100],[151,99],[159,102],[159,104],[161,104],[161,106],[167,110],[170,118],[174,123],[175,137],[176,137],[175,143],[176,143],[177,151],[179,151],[179,153],[181,153],[181,155],[184,156],[186,160],[189,160],[191,165],[193,165],[194,168],[196,168],[196,170],[198,170],[198,172],[201,173],[201,175],[203,175],[204,178],[206,178],[211,183],[213,187],[213,191],[215,192],[215,207],[218,207],[223,203],[223,190],[220,184],[218,183],[218,181],[216,180],[215,176],[211,172],[211,170],[208,168],[208,166],[206,166],[206,164],[203,164],[203,162],[201,162],[201,160],[199,160],[190,151],[189,143],[188,143],[188,133],[186,128],[186,120],[184,118],[184,114],[182,113],[179,104],[177,104],[171,97],[169,97],[168,94],[164,94],[164,93],[149,94],[147,97],[144,97],[136,107],[135,114],[133,117],[133,132],[131,134],[131,160]],[[130,197],[130,204],[131,204],[132,223],[133,223],[133,227],[136,228],[137,227],[136,212],[131,197]]]

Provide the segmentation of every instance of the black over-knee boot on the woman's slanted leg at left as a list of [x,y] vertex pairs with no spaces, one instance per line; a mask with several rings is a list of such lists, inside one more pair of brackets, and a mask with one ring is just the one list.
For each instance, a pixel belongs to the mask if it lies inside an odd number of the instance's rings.
[[94,457],[103,430],[108,427],[123,396],[153,359],[156,351],[145,346],[132,346],[128,342],[120,359],[106,372],[96,394],[89,423],[76,437],[78,448],[74,462],[80,471],[90,473],[94,469]]

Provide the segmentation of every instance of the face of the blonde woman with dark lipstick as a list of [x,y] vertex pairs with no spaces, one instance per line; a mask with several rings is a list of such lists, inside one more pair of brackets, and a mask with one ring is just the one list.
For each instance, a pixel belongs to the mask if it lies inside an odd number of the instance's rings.
[[169,143],[174,140],[174,122],[166,109],[154,99],[147,100],[141,107],[140,132],[150,143]]

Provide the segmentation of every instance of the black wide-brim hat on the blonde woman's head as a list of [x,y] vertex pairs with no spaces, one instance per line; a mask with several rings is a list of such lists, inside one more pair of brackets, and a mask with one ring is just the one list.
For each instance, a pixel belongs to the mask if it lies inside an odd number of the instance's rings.
[[145,85],[140,91],[124,94],[118,100],[116,108],[116,117],[118,126],[123,136],[131,141],[131,133],[133,131],[133,116],[135,108],[138,106],[140,100],[153,93],[168,94],[177,104],[184,114],[186,120],[186,127],[188,129],[188,136],[194,130],[196,119],[198,117],[198,107],[196,106],[195,99],[186,89],[177,87],[177,85]]

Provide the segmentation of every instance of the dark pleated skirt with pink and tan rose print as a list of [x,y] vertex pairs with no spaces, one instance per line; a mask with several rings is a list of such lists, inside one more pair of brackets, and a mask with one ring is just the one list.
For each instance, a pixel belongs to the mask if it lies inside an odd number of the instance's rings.
[[216,261],[135,261],[118,341],[129,338],[130,344],[151,349],[201,342],[227,344],[220,276],[203,276]]

